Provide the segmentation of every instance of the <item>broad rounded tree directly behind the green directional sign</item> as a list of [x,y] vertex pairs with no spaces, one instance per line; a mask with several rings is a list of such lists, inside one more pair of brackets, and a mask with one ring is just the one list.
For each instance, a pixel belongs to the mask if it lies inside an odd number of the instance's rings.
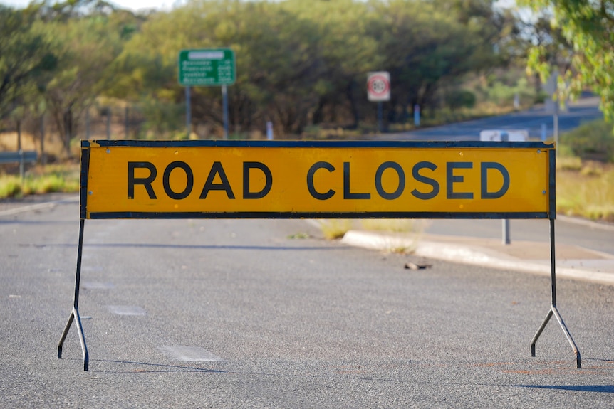
[[[172,109],[184,95],[177,84],[179,51],[222,47],[236,53],[236,83],[228,88],[234,130],[264,129],[272,119],[279,132],[300,133],[325,77],[321,41],[311,21],[280,4],[191,1],[151,16],[118,62],[134,85],[132,95],[147,105],[156,99]],[[219,87],[192,88],[192,119],[222,129]]]

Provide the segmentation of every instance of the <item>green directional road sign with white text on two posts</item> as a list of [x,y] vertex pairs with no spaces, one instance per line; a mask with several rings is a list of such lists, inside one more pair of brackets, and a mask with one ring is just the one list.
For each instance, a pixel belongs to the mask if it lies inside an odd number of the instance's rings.
[[230,48],[179,51],[180,85],[231,85],[235,80],[236,63]]

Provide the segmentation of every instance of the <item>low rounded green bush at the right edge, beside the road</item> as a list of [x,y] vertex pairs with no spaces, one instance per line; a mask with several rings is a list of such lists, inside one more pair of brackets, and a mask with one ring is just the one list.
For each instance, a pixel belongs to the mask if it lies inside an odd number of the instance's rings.
[[614,163],[613,126],[605,121],[588,122],[561,134],[560,144],[581,159]]

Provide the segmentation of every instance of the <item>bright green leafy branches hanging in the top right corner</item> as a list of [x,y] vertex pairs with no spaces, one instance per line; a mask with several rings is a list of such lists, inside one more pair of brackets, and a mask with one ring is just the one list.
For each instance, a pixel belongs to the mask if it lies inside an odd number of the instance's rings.
[[[614,120],[614,2],[612,0],[523,0],[536,12],[551,11],[551,24],[573,46],[571,67],[559,77],[559,100],[591,88],[601,97],[605,118]],[[535,46],[529,69],[551,74],[546,48]]]

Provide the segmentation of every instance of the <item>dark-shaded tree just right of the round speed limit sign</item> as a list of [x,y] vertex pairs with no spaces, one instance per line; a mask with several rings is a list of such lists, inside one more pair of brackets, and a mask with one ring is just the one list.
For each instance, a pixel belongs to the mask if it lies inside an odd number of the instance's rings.
[[391,122],[404,120],[413,105],[442,105],[442,89],[453,89],[467,74],[499,63],[497,37],[487,28],[494,14],[483,1],[468,3],[482,15],[449,0],[372,1],[378,18],[372,19],[369,33],[384,56],[381,69],[390,71]]

